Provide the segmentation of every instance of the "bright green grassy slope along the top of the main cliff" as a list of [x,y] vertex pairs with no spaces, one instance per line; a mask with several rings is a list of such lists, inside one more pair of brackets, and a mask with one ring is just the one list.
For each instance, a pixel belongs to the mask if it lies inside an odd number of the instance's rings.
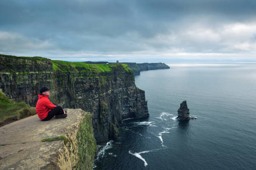
[[52,60],[52,67],[54,70],[62,72],[132,72],[126,64],[87,64],[84,62]]

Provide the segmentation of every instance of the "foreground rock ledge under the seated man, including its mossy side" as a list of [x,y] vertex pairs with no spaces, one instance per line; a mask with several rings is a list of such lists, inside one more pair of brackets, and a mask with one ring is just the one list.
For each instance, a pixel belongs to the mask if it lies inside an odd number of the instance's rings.
[[92,117],[81,109],[67,112],[65,119],[43,122],[33,115],[1,127],[0,170],[92,170]]

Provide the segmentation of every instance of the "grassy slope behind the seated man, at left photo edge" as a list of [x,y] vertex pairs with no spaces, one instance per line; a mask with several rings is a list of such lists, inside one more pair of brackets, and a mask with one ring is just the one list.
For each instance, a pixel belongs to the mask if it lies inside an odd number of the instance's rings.
[[0,126],[35,114],[36,108],[10,100],[0,89]]

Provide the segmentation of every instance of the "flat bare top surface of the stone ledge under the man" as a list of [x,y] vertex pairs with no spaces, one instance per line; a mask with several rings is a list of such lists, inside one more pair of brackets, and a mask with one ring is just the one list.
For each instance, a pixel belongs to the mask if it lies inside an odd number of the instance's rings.
[[41,121],[37,115],[0,127],[0,170],[38,170],[50,163],[64,142],[41,142],[68,134],[65,130],[83,119],[81,109],[65,109],[67,118]]

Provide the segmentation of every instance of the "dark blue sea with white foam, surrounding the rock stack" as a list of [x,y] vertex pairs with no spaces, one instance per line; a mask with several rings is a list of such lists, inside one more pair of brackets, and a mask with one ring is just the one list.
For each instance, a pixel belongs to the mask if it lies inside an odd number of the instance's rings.
[[[172,64],[135,77],[150,117],[125,120],[95,170],[256,169],[256,63]],[[187,100],[196,120],[179,121]]]

